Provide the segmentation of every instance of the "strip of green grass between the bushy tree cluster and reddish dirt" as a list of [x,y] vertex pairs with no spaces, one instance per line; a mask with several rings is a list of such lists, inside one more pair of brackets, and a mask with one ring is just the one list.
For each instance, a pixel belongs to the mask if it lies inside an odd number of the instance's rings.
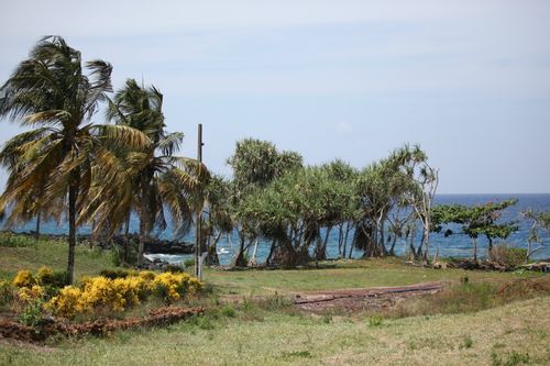
[[205,273],[205,279],[222,293],[245,296],[405,286],[440,280],[458,281],[463,277],[472,280],[486,280],[530,276],[538,275],[421,268],[405,265],[399,258],[342,260],[331,263],[328,268],[319,269],[206,270]]

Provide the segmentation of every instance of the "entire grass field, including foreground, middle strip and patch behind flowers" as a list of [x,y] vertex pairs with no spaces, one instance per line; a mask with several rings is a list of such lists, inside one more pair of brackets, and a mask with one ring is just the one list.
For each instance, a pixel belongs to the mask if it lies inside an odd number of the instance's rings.
[[[0,245],[0,276],[11,277],[19,269],[42,265],[65,268],[66,243],[30,243],[32,240],[25,239],[18,244],[18,239],[10,240],[13,243]],[[77,248],[77,275],[95,275],[112,267],[109,253]],[[471,282],[482,284],[540,275],[436,270],[406,266],[398,258],[323,263],[319,269],[300,270],[209,269],[205,278],[213,286],[215,295],[204,302],[216,303],[217,295],[246,298],[436,280],[459,282],[465,276]],[[541,280],[548,282],[548,278]],[[375,321],[369,313],[312,315],[288,307],[260,308],[245,301],[235,306],[234,312],[219,306],[204,318],[163,329],[120,331],[107,337],[48,340],[45,345],[0,341],[0,365],[550,364],[548,293],[539,291],[535,298],[510,303],[501,298],[494,302],[495,308],[490,308],[483,311],[470,311],[468,307],[455,311],[449,308],[454,298],[441,299],[446,309],[454,313]],[[426,307],[422,301],[410,304]],[[501,306],[503,302],[506,304]],[[410,313],[425,313],[424,309]]]

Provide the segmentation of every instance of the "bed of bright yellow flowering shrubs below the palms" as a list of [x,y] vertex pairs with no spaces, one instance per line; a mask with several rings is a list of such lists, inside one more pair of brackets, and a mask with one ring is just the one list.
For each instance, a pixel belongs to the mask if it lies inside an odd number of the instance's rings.
[[121,312],[150,298],[173,303],[204,288],[186,273],[128,271],[124,276],[84,277],[79,285],[64,287],[58,286],[62,277],[47,267],[36,275],[21,270],[11,285],[1,284],[1,298],[12,300],[20,322],[35,325],[45,314],[73,319],[77,314]]

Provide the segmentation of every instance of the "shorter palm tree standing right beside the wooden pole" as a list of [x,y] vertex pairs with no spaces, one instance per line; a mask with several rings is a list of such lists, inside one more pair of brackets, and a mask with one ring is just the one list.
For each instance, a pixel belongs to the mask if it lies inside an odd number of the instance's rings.
[[[163,95],[154,86],[125,82],[109,103],[107,118],[118,125],[142,131],[152,142],[145,149],[119,151],[127,160],[127,180],[120,191],[120,215],[135,211],[140,218],[138,265],[143,262],[145,241],[153,229],[165,230],[165,210],[172,217],[176,235],[193,222],[191,207],[199,207],[209,174],[197,160],[174,156],[183,143],[180,132],[167,133],[162,111]],[[202,207],[202,206],[200,206]]]

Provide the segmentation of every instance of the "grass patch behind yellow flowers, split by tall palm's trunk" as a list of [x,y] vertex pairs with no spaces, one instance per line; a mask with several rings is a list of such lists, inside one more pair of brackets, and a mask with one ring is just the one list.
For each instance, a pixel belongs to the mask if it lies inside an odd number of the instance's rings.
[[[67,269],[68,244],[65,241],[0,234],[0,278],[11,278],[18,270],[36,270],[42,266],[54,270]],[[114,268],[110,252],[77,245],[75,254],[76,278],[97,275],[101,269]]]

